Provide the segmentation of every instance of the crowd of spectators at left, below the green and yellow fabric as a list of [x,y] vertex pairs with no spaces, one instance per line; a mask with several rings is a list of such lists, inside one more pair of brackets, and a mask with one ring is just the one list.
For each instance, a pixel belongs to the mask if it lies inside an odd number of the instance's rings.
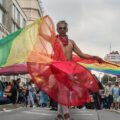
[[21,104],[25,106],[45,107],[48,104],[49,97],[40,91],[32,80],[29,83],[21,85],[21,79],[11,80],[11,82],[4,82],[4,89],[1,91],[0,104]]

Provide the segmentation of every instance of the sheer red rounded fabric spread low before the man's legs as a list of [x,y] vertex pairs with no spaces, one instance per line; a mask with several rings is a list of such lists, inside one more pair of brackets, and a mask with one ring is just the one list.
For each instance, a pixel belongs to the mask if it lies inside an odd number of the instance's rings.
[[28,63],[28,68],[36,85],[62,105],[79,106],[89,102],[88,89],[99,89],[91,73],[75,62]]

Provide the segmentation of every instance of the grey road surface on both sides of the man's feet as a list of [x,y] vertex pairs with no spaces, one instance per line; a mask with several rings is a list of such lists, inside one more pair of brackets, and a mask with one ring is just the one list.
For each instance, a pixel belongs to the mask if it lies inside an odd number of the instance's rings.
[[[106,110],[71,109],[73,120],[120,120],[120,113]],[[0,112],[0,120],[55,120],[56,111],[49,108],[18,108]]]

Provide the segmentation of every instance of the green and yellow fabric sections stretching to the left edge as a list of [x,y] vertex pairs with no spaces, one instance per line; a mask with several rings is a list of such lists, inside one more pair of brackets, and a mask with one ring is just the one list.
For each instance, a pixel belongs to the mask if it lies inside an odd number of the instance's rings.
[[27,62],[43,19],[44,17],[0,40],[0,67]]

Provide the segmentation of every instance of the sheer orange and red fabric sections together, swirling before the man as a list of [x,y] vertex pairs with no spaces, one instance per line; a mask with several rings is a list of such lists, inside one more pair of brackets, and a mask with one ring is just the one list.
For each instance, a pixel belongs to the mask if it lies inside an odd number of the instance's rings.
[[85,67],[66,61],[49,17],[42,20],[27,65],[36,85],[59,104],[82,105],[90,101],[88,89],[94,92],[99,89],[96,79]]

